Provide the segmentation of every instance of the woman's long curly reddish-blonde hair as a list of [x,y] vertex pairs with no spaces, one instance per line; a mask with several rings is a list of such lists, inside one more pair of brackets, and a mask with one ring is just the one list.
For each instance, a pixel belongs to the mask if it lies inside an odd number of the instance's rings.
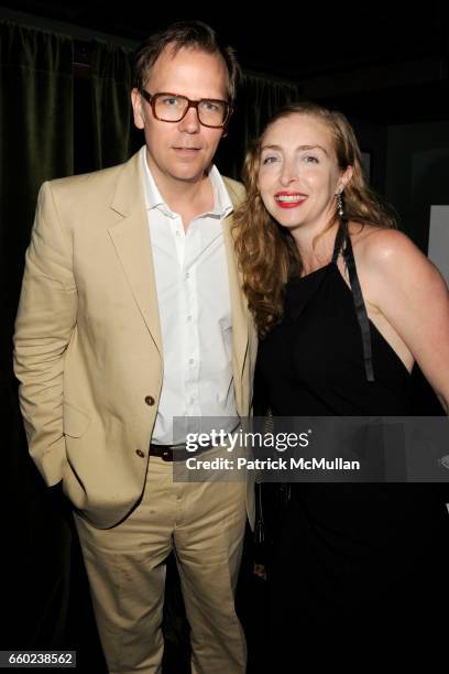
[[[243,290],[254,316],[260,337],[280,323],[283,315],[284,289],[292,276],[299,275],[302,260],[288,229],[282,227],[266,210],[259,191],[259,167],[262,139],[278,119],[292,115],[313,117],[331,133],[341,171],[352,166],[352,177],[344,188],[344,217],[349,221],[376,227],[396,227],[391,209],[383,205],[366,184],[358,141],[351,124],[341,112],[313,102],[289,104],[280,109],[266,124],[259,140],[250,145],[243,183],[247,200],[234,214],[234,242]],[[329,227],[338,220],[335,216]]]

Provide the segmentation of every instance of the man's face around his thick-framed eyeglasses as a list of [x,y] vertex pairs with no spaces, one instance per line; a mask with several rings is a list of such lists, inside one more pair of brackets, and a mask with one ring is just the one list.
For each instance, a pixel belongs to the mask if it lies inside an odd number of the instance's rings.
[[[168,45],[157,58],[145,89],[150,94],[178,94],[191,100],[227,100],[227,68],[216,54],[182,48],[174,55]],[[195,108],[179,122],[157,120],[151,105],[132,90],[134,123],[144,129],[146,157],[153,177],[160,185],[177,187],[200,181],[216,153],[223,129],[199,123]]]

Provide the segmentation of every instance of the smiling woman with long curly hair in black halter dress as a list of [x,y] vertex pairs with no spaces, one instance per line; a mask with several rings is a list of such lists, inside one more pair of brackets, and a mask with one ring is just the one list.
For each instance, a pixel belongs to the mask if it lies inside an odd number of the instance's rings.
[[[244,180],[236,246],[261,337],[259,401],[274,416],[441,414],[416,407],[419,367],[447,413],[446,284],[374,198],[347,119],[284,108]],[[272,671],[305,650],[317,664],[362,649],[371,660],[387,641],[402,661],[417,644],[431,656],[447,629],[437,609],[449,611],[448,491],[291,485],[267,564]]]

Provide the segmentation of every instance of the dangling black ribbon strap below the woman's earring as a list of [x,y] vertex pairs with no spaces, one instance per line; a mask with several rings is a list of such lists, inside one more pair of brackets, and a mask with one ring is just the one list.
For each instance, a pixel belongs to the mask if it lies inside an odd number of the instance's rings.
[[[343,252],[344,262],[348,269],[349,282],[351,284],[352,297],[353,297],[354,307],[355,307],[355,315],[359,322],[360,330],[362,333],[363,360],[364,360],[366,380],[374,381],[370,322],[368,318],[366,306],[363,300],[362,289],[360,287],[360,281],[359,281],[359,276],[357,273],[354,253],[353,253],[352,243],[351,243],[351,237],[349,236],[349,232],[348,232],[348,220],[341,221],[341,225],[339,227],[339,230],[336,237],[336,247],[335,247],[333,254],[336,254],[336,251],[337,251],[337,258],[338,258],[338,253],[340,251],[341,242],[342,242],[341,241],[339,243],[339,248],[337,248],[337,242],[340,238],[339,237],[340,232],[342,232],[342,241],[344,241],[344,248],[342,252]],[[332,262],[337,262],[337,258],[336,260],[333,260],[332,258]]]

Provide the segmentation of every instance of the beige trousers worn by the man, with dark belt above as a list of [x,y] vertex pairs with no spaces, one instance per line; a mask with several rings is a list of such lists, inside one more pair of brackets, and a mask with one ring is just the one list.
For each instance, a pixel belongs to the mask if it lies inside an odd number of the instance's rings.
[[75,515],[109,672],[161,672],[163,562],[174,548],[193,674],[244,673],[234,593],[245,520],[244,481],[174,482],[173,465],[158,457],[122,523],[101,530]]

